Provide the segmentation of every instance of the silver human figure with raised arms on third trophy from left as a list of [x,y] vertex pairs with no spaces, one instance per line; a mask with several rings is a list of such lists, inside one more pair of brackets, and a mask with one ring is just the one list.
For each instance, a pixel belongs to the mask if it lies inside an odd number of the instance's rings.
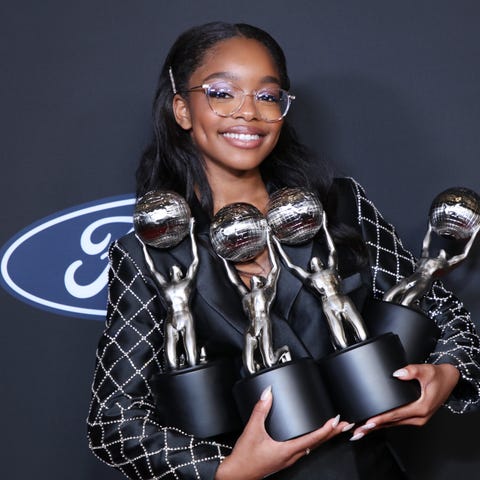
[[337,349],[349,346],[345,325],[349,325],[358,341],[366,340],[367,330],[363,319],[350,297],[341,290],[341,278],[338,274],[338,258],[332,237],[327,229],[327,216],[322,209],[321,222],[327,241],[328,264],[324,265],[318,257],[310,260],[310,271],[294,265],[281,243],[275,239],[275,245],[285,265],[322,301],[322,310],[330,328],[332,342]]

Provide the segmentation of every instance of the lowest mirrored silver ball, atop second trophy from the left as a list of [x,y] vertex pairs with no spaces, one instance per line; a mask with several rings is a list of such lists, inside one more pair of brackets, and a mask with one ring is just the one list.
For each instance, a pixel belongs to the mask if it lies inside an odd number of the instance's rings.
[[258,208],[232,203],[221,208],[210,225],[210,240],[218,255],[231,262],[248,262],[267,245],[268,225]]

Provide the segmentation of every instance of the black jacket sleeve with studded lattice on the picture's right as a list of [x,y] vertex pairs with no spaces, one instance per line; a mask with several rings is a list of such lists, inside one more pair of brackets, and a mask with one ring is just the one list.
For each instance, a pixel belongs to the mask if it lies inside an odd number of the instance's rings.
[[[406,250],[395,228],[387,223],[362,187],[353,180],[357,221],[366,242],[375,298],[414,271],[416,259]],[[454,413],[480,408],[480,341],[469,312],[442,283],[436,281],[420,308],[440,327],[441,336],[429,363],[450,363],[460,371],[460,381],[446,402]]]

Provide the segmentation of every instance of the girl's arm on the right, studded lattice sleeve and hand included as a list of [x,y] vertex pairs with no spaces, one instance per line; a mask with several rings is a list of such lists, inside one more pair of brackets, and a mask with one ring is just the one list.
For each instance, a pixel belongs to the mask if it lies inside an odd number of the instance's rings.
[[[401,278],[410,275],[414,256],[407,251],[395,229],[352,182],[358,205],[358,223],[367,244],[373,292],[381,298]],[[480,407],[480,341],[469,313],[440,282],[435,282],[421,303],[422,310],[440,327],[441,336],[427,364],[408,365],[396,376],[420,382],[420,398],[409,405],[369,419],[371,428],[389,425],[423,425],[445,405],[455,413]],[[368,429],[359,428],[354,438]]]

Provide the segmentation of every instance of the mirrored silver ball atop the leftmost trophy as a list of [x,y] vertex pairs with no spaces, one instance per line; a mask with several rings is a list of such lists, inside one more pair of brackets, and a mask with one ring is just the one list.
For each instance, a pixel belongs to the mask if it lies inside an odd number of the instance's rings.
[[152,190],[137,200],[133,226],[147,245],[171,248],[188,235],[190,218],[190,207],[181,195],[168,190]]

